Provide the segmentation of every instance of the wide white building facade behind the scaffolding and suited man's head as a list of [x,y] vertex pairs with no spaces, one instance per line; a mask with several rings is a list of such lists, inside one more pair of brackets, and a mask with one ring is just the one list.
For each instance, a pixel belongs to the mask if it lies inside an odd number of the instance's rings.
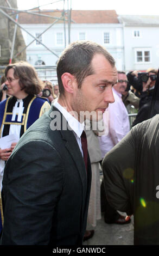
[[[77,11],[76,11],[77,12]],[[81,13],[82,11],[80,11]],[[91,11],[89,11],[91,12]],[[107,11],[109,12],[109,11]],[[114,11],[115,12],[115,11]],[[93,11],[94,13],[94,11]],[[100,11],[96,11],[100,15]],[[85,15],[87,15],[85,13]],[[124,45],[123,45],[123,26],[117,19],[113,23],[71,23],[70,42],[77,40],[91,40],[103,45],[116,60],[117,69],[124,68]],[[105,17],[104,22],[106,22]],[[98,19],[98,18],[97,18]],[[73,20],[75,18],[73,17]],[[85,19],[84,19],[85,20]],[[93,20],[94,22],[94,20]],[[37,37],[43,31],[47,30],[50,23],[21,23],[29,33]],[[26,45],[30,44],[34,39],[29,34],[22,31]],[[65,29],[63,23],[56,23],[43,33],[39,40],[46,45],[52,52],[48,51],[39,41],[34,41],[27,47],[27,61],[32,65],[45,64],[46,66],[54,66],[58,60],[58,56],[68,45],[68,25],[66,23]]]

